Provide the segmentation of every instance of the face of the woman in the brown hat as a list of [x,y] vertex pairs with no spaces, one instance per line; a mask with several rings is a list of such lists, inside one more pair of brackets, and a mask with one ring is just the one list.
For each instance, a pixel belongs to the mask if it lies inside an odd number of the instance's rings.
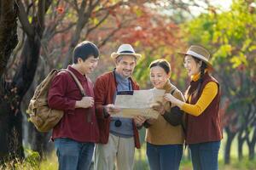
[[189,77],[200,72],[202,62],[196,62],[191,55],[186,55],[184,59],[184,67],[188,71]]

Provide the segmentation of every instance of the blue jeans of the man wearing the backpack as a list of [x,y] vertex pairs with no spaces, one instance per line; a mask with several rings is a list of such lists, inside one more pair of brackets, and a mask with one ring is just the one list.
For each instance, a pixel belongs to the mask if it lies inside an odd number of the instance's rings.
[[55,139],[59,170],[87,170],[93,155],[94,143],[81,143],[73,139]]

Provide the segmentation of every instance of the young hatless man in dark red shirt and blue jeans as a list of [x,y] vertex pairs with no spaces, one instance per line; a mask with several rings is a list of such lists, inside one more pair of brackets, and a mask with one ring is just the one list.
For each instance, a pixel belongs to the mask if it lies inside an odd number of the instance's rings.
[[67,71],[59,72],[49,89],[49,107],[64,111],[64,116],[52,133],[60,170],[90,168],[99,131],[93,83],[88,75],[96,68],[98,59],[96,45],[92,42],[81,42],[73,50],[73,65],[67,67],[81,82],[85,97]]

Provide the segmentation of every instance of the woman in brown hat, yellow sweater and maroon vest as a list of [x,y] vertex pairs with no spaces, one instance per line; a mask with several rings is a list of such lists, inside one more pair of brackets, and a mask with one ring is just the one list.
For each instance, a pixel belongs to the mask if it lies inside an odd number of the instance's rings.
[[210,54],[201,46],[191,46],[184,55],[184,67],[191,77],[185,94],[186,102],[172,94],[165,99],[185,111],[186,143],[191,150],[195,170],[217,170],[218,150],[223,138],[219,115],[220,92],[216,79],[209,75]]

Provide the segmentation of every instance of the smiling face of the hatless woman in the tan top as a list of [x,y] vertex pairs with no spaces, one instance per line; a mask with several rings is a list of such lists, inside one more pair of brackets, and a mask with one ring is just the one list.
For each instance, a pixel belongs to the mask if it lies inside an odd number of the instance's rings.
[[150,69],[150,81],[154,88],[164,88],[169,77],[170,73],[167,74],[166,71],[160,66],[154,66]]

